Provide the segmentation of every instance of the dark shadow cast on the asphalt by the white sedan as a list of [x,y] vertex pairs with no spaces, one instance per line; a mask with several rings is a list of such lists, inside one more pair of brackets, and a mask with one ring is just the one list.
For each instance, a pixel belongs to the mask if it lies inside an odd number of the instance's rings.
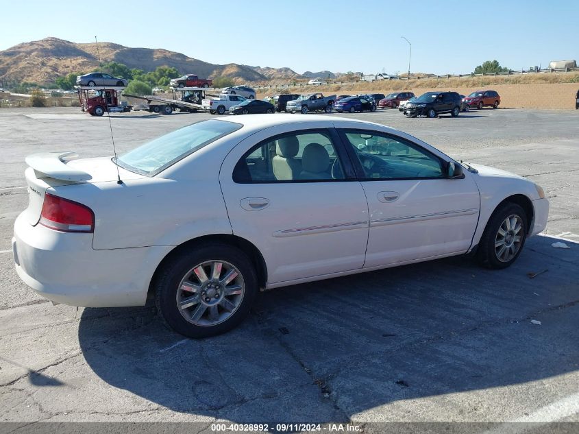
[[153,308],[85,309],[79,343],[109,385],[234,422],[336,422],[537,381],[579,358],[579,245],[554,241],[529,239],[499,271],[461,256],[261,293],[236,330],[197,341]]

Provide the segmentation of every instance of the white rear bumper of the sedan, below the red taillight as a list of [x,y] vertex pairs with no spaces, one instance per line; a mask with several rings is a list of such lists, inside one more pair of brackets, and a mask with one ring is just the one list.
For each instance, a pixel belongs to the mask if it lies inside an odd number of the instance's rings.
[[12,252],[19,277],[40,296],[71,306],[142,306],[167,248],[94,250],[93,234],[14,223]]

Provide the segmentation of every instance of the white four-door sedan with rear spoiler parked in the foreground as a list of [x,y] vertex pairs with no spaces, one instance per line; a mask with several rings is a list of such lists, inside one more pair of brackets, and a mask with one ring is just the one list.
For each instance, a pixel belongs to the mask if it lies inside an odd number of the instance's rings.
[[260,289],[470,252],[508,267],[549,209],[529,180],[336,117],[201,121],[116,164],[66,152],[27,164],[21,279],[74,306],[150,293],[190,337],[239,324]]

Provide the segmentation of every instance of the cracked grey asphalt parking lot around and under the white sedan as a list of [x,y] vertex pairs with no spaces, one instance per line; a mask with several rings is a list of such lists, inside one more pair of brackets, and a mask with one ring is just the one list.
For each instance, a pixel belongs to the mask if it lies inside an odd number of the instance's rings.
[[[106,117],[2,109],[0,421],[196,421],[208,431],[216,420],[366,431],[391,421],[579,422],[579,110],[343,116],[541,184],[545,234],[509,269],[447,258],[278,289],[232,333],[184,339],[150,307],[53,306],[19,280],[10,239],[27,206],[25,156],[105,156],[112,145]],[[114,114],[117,152],[209,117]],[[560,238],[569,249],[552,247]]]

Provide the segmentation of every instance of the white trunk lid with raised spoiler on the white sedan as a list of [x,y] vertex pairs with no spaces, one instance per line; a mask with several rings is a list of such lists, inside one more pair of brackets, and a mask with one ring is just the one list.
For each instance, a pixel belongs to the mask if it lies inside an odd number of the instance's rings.
[[[45,193],[50,187],[71,184],[111,182],[117,180],[116,165],[110,157],[76,159],[74,152],[47,152],[27,156],[24,172],[28,186],[28,208],[25,218],[32,226],[40,220]],[[121,180],[146,178],[119,167]]]

